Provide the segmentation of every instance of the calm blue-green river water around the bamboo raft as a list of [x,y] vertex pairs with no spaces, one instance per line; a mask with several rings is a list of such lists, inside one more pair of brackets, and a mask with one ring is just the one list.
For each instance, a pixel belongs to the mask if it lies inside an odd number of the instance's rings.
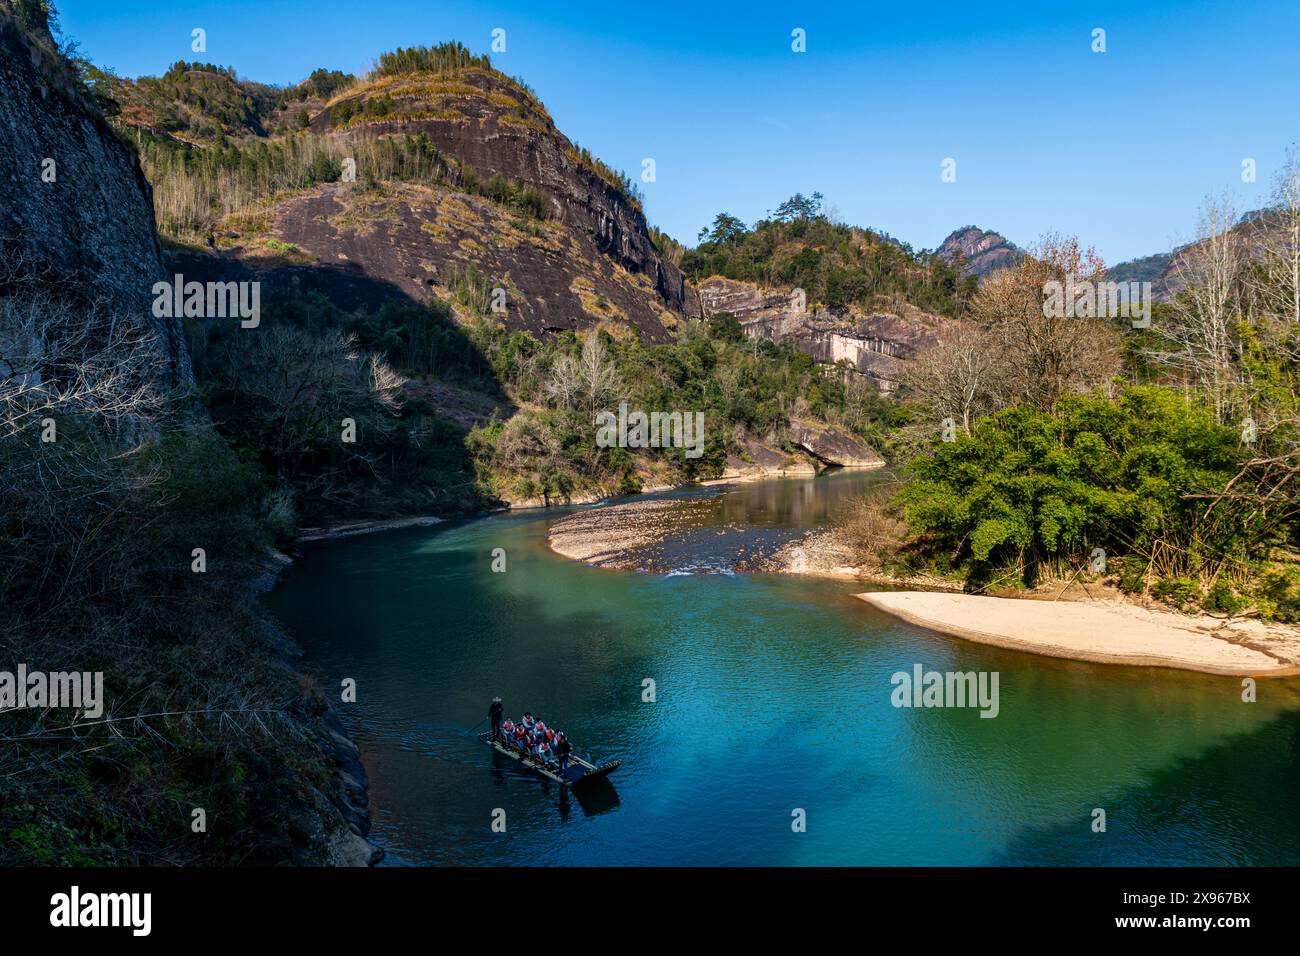
[[[788,535],[880,480],[737,486],[712,537]],[[1243,704],[1236,679],[931,635],[861,585],[590,568],[547,549],[555,516],[320,545],[269,598],[321,685],[358,682],[341,711],[389,864],[1300,864],[1296,682]],[[682,566],[725,567],[702,553]],[[918,662],[998,671],[1000,715],[893,708]],[[620,758],[614,786],[562,800],[467,736],[494,693]]]

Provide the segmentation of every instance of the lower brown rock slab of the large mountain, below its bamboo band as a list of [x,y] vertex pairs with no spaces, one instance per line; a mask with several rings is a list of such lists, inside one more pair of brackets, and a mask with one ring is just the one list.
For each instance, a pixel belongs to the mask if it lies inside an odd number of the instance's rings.
[[329,183],[282,203],[270,232],[309,261],[259,261],[234,250],[239,265],[268,290],[321,291],[343,308],[455,300],[451,286],[472,267],[485,287],[502,289],[494,317],[511,329],[541,336],[621,325],[663,342],[684,317],[649,276],[602,255],[585,233],[554,220],[521,222],[490,199],[450,189],[394,183],[367,193]]

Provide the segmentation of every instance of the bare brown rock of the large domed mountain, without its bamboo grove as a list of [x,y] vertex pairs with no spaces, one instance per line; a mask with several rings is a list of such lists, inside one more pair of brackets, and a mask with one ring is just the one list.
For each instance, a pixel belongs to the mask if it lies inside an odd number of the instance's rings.
[[[214,260],[187,256],[186,271],[252,273],[270,290],[318,290],[348,310],[437,295],[459,300],[462,313],[490,311],[537,334],[601,325],[668,341],[697,299],[651,241],[632,183],[560,133],[520,82],[469,59],[445,70],[377,73],[329,100],[313,95],[259,117],[276,135],[244,135],[243,147],[307,148],[315,137],[312,148],[335,161],[356,157],[356,179],[281,190],[252,215],[230,216],[209,237]],[[124,99],[121,122],[140,125],[131,120],[135,100]],[[286,117],[303,129],[286,129]],[[146,127],[157,133],[156,124]],[[415,161],[436,177],[390,176],[367,159],[385,146],[410,157],[416,140]],[[516,198],[528,190],[529,208],[498,189]],[[476,295],[464,294],[467,285]],[[497,308],[464,302],[495,289],[504,294]]]

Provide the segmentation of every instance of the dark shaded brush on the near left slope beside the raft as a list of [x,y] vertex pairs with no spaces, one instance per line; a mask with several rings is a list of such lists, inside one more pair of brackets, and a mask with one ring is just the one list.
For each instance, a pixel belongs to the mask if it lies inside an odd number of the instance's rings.
[[107,708],[5,714],[0,865],[322,861],[292,822],[325,786],[321,705],[250,600],[265,479],[144,384],[118,316],[13,263],[0,280],[0,326],[43,333],[0,388],[0,644],[9,670],[103,672]]

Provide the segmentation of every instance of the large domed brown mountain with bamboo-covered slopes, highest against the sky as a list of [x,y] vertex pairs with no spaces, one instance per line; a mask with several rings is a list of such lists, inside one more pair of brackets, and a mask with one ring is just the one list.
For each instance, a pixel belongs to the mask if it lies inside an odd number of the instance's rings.
[[[322,291],[344,308],[436,295],[467,320],[490,315],[536,334],[601,325],[668,341],[696,313],[630,181],[569,140],[485,56],[443,44],[385,55],[360,81],[320,70],[338,78],[324,85],[328,98],[308,81],[259,99],[230,72],[198,73],[225,91],[224,105],[186,129],[220,127],[238,142],[194,148],[160,133],[159,114],[196,101],[200,79],[187,64],[112,87],[124,98],[118,122],[142,148],[164,232],[239,274]],[[142,91],[169,90],[174,101],[153,101],[142,124],[131,105]],[[212,203],[186,204],[196,178]],[[238,202],[212,217],[226,196]]]

